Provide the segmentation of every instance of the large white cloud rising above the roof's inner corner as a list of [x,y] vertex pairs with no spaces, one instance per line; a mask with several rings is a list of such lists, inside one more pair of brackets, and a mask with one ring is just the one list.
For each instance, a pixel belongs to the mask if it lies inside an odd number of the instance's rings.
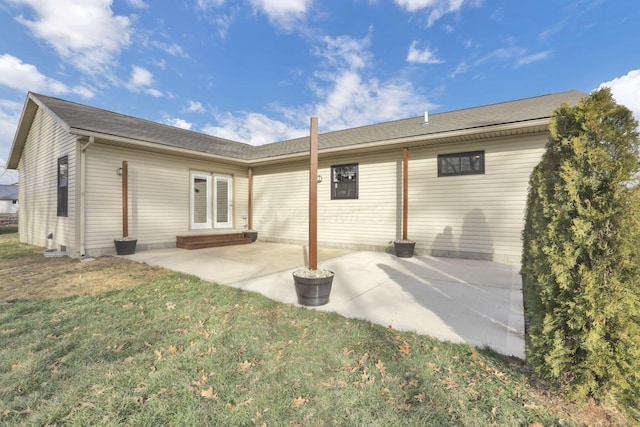
[[204,132],[260,145],[307,135],[310,116],[318,116],[321,132],[327,132],[415,117],[434,107],[407,80],[369,77],[369,36],[325,37],[321,42],[314,51],[321,69],[310,83],[317,102],[274,109],[282,120],[253,112],[214,114],[217,124],[207,125]]

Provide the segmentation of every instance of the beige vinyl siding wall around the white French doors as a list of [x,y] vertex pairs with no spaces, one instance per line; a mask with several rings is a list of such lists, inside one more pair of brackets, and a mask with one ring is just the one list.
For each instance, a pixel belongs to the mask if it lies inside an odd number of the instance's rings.
[[[187,159],[95,143],[87,150],[86,251],[112,253],[122,236],[122,161],[129,172],[129,237],[143,249],[175,246],[177,235],[189,234],[191,171],[233,176],[233,226],[242,230],[247,215],[247,168]],[[195,230],[194,233],[229,232]]]

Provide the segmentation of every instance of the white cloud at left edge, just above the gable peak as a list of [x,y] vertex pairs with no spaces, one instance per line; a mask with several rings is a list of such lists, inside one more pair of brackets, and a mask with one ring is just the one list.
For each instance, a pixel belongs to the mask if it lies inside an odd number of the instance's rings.
[[59,80],[42,74],[35,65],[25,64],[13,55],[0,55],[0,84],[21,92],[43,92],[49,95],[74,93],[83,98],[91,98],[91,89],[76,85],[68,87]]

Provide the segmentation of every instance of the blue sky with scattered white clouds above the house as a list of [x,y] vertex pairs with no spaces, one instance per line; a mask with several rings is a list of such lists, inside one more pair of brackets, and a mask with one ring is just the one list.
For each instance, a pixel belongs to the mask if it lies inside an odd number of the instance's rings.
[[0,0],[0,161],[28,91],[255,145],[601,85],[640,118],[638,22],[637,0]]

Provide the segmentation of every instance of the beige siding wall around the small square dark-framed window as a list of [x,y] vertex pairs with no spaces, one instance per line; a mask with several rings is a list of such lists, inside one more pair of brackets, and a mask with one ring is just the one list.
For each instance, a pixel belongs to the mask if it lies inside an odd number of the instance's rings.
[[[331,166],[358,163],[357,200],[331,200]],[[382,248],[396,237],[396,183],[402,153],[396,151],[321,157],[318,175],[318,242],[320,245]],[[291,243],[308,240],[308,161],[254,170],[254,228],[261,239]]]

